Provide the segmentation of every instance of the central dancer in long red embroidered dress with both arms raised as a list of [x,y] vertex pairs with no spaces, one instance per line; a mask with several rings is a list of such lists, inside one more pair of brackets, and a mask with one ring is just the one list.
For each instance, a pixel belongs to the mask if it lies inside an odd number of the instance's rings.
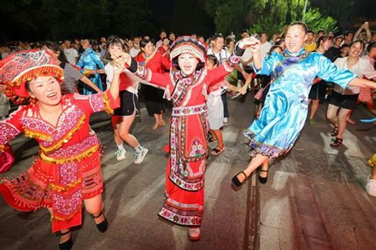
[[176,70],[169,73],[152,72],[128,54],[128,69],[142,79],[165,88],[172,100],[170,152],[167,161],[165,200],[159,215],[179,225],[189,226],[191,240],[200,239],[204,210],[204,179],[208,156],[207,89],[220,87],[219,82],[232,72],[244,52],[248,40],[237,46],[236,55],[226,63],[207,70],[206,44],[192,36],[178,37],[171,46],[170,58]]

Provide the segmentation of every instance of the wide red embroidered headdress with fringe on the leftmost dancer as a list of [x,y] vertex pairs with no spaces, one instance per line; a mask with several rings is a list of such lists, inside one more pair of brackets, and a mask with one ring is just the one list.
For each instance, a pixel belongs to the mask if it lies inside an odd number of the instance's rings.
[[5,93],[15,103],[30,97],[25,83],[42,75],[54,76],[59,82],[64,79],[63,69],[46,50],[24,50],[0,60],[0,84],[7,85]]

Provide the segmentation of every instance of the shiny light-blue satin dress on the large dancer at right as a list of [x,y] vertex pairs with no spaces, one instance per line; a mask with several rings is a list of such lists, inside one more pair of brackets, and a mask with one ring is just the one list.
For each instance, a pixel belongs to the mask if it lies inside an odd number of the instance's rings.
[[356,77],[348,69],[339,69],[328,58],[317,52],[297,53],[287,49],[273,52],[262,62],[257,74],[271,75],[272,82],[266,95],[260,118],[243,132],[250,139],[250,154],[270,158],[289,151],[303,129],[308,112],[308,93],[314,78],[335,82],[341,87]]

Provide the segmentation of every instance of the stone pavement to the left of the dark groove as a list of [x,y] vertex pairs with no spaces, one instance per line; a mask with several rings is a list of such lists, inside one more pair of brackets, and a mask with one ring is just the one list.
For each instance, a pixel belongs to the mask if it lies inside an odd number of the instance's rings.
[[[109,229],[100,233],[93,219],[84,212],[81,228],[73,232],[73,249],[243,249],[248,246],[248,188],[234,191],[231,178],[246,167],[248,147],[241,131],[250,122],[253,106],[230,101],[230,125],[224,129],[225,152],[211,157],[205,183],[205,211],[202,238],[187,239],[187,229],[158,218],[163,201],[166,156],[162,147],[168,140],[168,126],[151,130],[153,118],[141,103],[141,117],[133,134],[149,148],[143,163],[133,163],[133,149],[126,147],[127,156],[116,161],[115,143],[110,119],[103,113],[92,117],[92,128],[104,147],[102,158],[105,191],[103,200]],[[242,107],[244,113],[235,110]],[[38,147],[24,136],[12,141],[17,152],[15,165],[1,176],[14,177],[32,164]],[[49,213],[19,212],[0,198],[1,249],[56,249],[58,237],[51,234]]]

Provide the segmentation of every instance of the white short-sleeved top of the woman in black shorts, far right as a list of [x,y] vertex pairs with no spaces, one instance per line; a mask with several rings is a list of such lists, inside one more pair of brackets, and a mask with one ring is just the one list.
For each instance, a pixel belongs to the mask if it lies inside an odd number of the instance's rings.
[[[374,78],[376,77],[376,70],[373,69],[371,63],[364,58],[359,58],[355,65],[351,68],[347,66],[347,57],[339,57],[334,61],[334,64],[338,68],[347,68],[354,74],[356,74],[359,78],[365,76],[367,78]],[[349,86],[348,88],[343,89],[339,85],[335,84],[334,90],[340,94],[357,94],[360,92],[360,87],[356,86]]]

